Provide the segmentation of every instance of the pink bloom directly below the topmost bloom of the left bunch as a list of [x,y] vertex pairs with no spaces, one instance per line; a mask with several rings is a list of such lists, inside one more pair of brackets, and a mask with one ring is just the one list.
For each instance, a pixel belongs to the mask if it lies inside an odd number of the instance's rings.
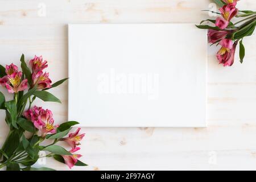
[[42,71],[32,73],[32,82],[33,85],[38,84],[37,89],[51,88],[52,83],[52,81],[49,78],[49,73],[43,73]]

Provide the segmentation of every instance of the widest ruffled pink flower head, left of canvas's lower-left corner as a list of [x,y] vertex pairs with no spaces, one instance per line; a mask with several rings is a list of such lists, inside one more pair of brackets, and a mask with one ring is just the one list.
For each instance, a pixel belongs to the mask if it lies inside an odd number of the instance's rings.
[[34,123],[34,126],[41,131],[41,137],[46,137],[47,134],[55,134],[57,127],[54,126],[51,110],[44,110],[42,107],[34,106],[24,112],[24,116]]

